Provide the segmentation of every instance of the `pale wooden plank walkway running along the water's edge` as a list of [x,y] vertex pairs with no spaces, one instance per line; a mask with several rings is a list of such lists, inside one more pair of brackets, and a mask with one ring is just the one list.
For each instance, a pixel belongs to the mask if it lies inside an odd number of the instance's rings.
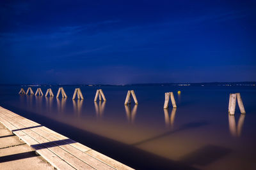
[[56,169],[132,169],[1,106],[0,122]]

